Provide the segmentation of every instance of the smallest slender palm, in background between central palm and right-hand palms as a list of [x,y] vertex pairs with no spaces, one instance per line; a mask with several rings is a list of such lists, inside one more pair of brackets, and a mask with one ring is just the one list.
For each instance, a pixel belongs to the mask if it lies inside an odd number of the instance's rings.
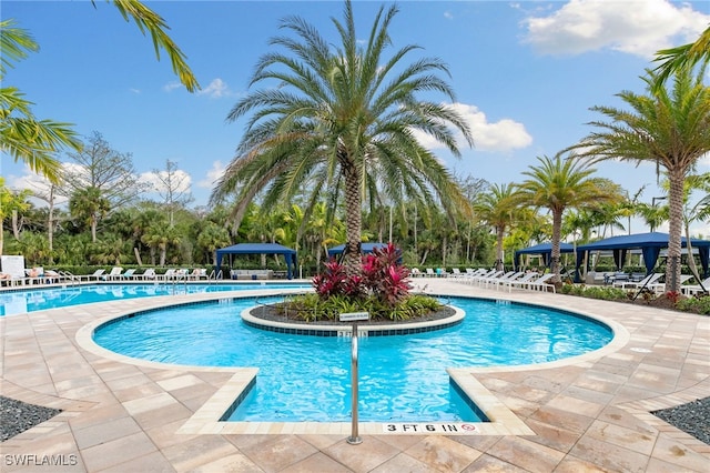
[[503,238],[506,230],[515,223],[515,214],[518,202],[514,194],[516,185],[493,184],[488,192],[478,194],[478,200],[474,203],[474,210],[478,218],[487,222],[496,232],[496,269],[503,270]]

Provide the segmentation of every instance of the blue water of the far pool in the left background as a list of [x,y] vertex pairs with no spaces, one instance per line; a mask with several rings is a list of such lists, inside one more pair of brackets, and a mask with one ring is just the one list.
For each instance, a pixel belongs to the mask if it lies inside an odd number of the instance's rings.
[[312,288],[297,283],[243,283],[243,284],[91,284],[0,292],[0,315],[43,311],[92,302],[153,295],[197,294],[202,292],[240,291],[250,289]]

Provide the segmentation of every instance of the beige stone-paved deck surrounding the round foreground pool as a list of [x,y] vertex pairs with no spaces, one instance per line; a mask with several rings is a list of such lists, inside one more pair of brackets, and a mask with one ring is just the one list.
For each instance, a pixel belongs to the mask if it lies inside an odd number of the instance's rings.
[[436,294],[597,314],[625,333],[612,348],[565,363],[457,370],[515,414],[525,434],[505,429],[474,435],[361,431],[363,442],[352,445],[347,433],[317,423],[298,434],[190,432],[186,426],[197,413],[234,382],[234,370],[131,363],[80,342],[99,319],[183,296],[3,316],[0,394],[63,412],[0,443],[0,471],[708,471],[710,445],[650,411],[710,395],[709,316],[541,292],[497,292],[455,279],[414,282]]

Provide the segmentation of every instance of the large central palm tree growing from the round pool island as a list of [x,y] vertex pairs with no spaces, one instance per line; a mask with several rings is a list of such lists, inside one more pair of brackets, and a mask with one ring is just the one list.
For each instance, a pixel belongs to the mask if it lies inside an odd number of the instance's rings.
[[[364,195],[382,192],[396,209],[407,198],[424,208],[437,200],[453,218],[466,201],[450,173],[416,139],[432,135],[459,155],[453,125],[473,144],[467,124],[452,108],[420,101],[418,93],[439,92],[454,100],[450,87],[436,73],[448,73],[438,59],[403,64],[417,48],[407,46],[389,59],[388,27],[397,13],[381,7],[364,47],[356,33],[351,1],[345,2],[344,22],[333,19],[341,43],[331,42],[298,17],[282,22],[294,37],[277,37],[272,44],[287,53],[270,52],[261,58],[251,84],[266,83],[236,103],[227,115],[235,121],[254,111],[237,148],[212,192],[220,202],[236,194],[233,219],[239,225],[248,203],[263,191],[266,211],[288,202],[305,183],[310,204],[325,195],[345,205],[348,274],[361,269],[362,202]],[[281,87],[274,88],[273,80]],[[310,211],[306,209],[306,213]]]

